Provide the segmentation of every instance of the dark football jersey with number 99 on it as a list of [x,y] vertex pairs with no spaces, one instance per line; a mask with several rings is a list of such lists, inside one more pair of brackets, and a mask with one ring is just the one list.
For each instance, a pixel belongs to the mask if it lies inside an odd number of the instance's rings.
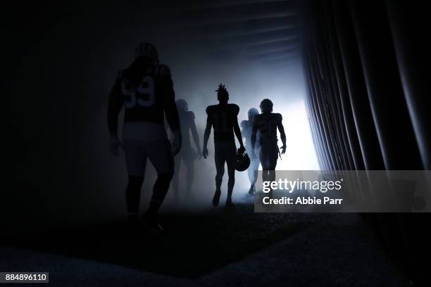
[[123,107],[124,138],[139,140],[165,138],[165,113],[170,128],[180,129],[169,68],[165,65],[148,67],[137,87],[131,87],[127,83],[126,73],[126,70],[120,71],[109,94],[109,132],[117,133],[118,114]]

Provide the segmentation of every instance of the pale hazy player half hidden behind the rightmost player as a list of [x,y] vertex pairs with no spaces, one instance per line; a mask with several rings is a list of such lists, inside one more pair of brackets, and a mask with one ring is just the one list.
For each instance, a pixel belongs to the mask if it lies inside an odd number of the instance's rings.
[[250,181],[250,189],[249,194],[254,194],[255,187],[257,180],[257,170],[259,169],[259,160],[256,156],[253,156],[254,154],[259,153],[259,140],[256,139],[256,144],[254,146],[254,153],[251,153],[251,130],[253,129],[253,119],[255,115],[258,115],[259,111],[256,108],[251,108],[249,110],[249,120],[243,120],[241,122],[241,128],[242,128],[242,136],[245,138],[245,146],[246,146],[246,152],[251,156],[251,162],[250,166],[247,170],[247,174],[249,175],[249,181]]

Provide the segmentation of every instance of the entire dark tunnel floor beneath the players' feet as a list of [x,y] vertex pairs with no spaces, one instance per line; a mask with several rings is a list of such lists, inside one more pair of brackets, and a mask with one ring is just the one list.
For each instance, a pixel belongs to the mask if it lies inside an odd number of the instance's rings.
[[8,238],[0,270],[47,271],[50,286],[408,286],[358,215],[242,204],[162,220],[163,238],[122,222]]

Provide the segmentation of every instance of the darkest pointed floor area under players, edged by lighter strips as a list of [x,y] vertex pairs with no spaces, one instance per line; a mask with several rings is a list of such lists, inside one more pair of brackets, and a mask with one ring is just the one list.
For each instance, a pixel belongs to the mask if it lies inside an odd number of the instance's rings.
[[63,227],[42,236],[15,236],[6,245],[197,278],[312,227],[328,215],[254,213],[254,206],[220,207],[201,214],[167,213],[167,234],[148,236],[125,222]]

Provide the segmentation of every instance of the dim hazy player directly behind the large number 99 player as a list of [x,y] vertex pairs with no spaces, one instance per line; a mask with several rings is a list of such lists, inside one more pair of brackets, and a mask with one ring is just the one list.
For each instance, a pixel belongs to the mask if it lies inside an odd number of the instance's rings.
[[[194,123],[194,113],[189,111],[189,107],[185,100],[177,100],[178,113],[180,115],[181,123],[181,134],[182,134],[182,147],[180,153],[175,156],[175,174],[173,177],[173,190],[175,198],[179,198],[179,174],[181,161],[185,163],[187,167],[186,175],[186,196],[191,196],[193,174],[194,174],[194,160],[196,158],[202,158],[201,144],[199,144],[199,136]],[[192,132],[194,145],[196,151],[192,148],[190,141],[190,132]]]

